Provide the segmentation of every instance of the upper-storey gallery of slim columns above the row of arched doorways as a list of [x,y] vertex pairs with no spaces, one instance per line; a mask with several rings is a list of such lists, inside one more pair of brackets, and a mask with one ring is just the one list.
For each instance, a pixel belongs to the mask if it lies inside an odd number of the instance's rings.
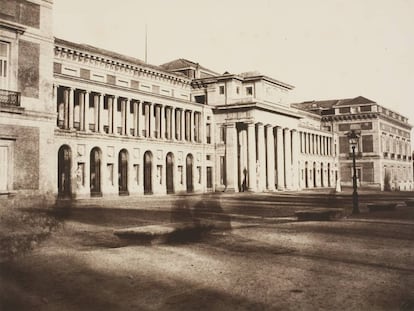
[[[201,110],[55,87],[61,129],[203,143]],[[194,107],[191,107],[194,108]],[[210,135],[210,133],[207,133]],[[207,137],[207,143],[211,138]]]

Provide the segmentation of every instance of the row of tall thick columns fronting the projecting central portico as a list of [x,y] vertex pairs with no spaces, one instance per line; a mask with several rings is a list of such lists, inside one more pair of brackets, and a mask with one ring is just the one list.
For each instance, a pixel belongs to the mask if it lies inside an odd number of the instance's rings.
[[263,123],[227,123],[226,190],[299,188],[299,133]]

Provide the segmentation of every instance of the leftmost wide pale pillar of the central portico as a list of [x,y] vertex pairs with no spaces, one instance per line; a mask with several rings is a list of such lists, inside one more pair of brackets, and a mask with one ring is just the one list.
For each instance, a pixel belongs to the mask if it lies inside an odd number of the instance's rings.
[[237,129],[235,123],[226,125],[226,191],[237,192]]

